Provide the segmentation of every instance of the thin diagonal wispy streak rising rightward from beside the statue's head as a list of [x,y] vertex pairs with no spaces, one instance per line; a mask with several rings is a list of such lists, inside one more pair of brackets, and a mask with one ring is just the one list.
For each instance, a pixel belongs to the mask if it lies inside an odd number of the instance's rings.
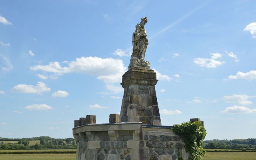
[[196,12],[197,10],[199,10],[200,8],[202,8],[204,5],[199,6],[197,8],[195,8],[194,10],[192,10],[191,12],[188,12],[187,14],[185,14],[184,16],[182,16],[181,18],[179,18],[178,20],[176,20],[175,22],[172,22],[171,24],[169,24],[168,26],[166,26],[165,28],[163,28],[162,30],[160,30],[159,32],[157,32],[156,34],[154,34],[152,37],[150,37],[149,39],[152,39],[156,36],[158,36],[159,34],[162,34],[166,31],[168,31],[170,28],[176,26],[177,24],[179,24],[180,22],[182,22],[183,20],[185,20],[186,18],[188,18],[190,15],[192,15],[194,12]]

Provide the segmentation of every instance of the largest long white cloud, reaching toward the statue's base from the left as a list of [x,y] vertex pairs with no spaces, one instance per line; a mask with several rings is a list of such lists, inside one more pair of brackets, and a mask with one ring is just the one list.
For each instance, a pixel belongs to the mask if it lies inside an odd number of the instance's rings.
[[122,60],[98,57],[76,58],[68,62],[68,67],[62,67],[59,62],[50,62],[45,66],[31,66],[30,69],[53,73],[55,76],[73,72],[95,75],[106,83],[121,82],[126,71]]

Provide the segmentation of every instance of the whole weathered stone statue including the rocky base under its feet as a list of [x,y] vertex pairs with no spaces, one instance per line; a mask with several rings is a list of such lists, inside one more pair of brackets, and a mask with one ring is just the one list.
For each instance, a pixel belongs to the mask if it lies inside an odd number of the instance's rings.
[[148,68],[150,69],[150,63],[145,59],[145,53],[148,46],[148,38],[145,24],[148,22],[147,16],[141,18],[140,24],[138,23],[135,27],[136,30],[132,34],[132,58],[129,64],[131,68]]

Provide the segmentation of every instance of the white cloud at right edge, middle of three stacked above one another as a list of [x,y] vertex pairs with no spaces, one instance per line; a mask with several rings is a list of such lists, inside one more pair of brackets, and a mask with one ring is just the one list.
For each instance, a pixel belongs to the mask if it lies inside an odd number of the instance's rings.
[[238,102],[239,104],[252,104],[251,101],[249,101],[249,98],[254,98],[256,96],[247,96],[246,94],[233,94],[232,96],[224,96],[223,100],[226,101],[227,103],[230,102]]

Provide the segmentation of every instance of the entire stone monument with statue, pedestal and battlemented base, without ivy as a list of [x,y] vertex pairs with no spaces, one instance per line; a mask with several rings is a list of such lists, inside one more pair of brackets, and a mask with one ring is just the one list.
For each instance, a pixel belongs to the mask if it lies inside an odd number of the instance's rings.
[[[141,19],[132,34],[132,58],[122,77],[124,96],[121,112],[110,114],[108,124],[96,124],[96,116],[75,120],[76,160],[188,160],[173,126],[162,126],[156,98],[156,72],[145,58],[148,45]],[[199,121],[199,119],[191,119]]]

